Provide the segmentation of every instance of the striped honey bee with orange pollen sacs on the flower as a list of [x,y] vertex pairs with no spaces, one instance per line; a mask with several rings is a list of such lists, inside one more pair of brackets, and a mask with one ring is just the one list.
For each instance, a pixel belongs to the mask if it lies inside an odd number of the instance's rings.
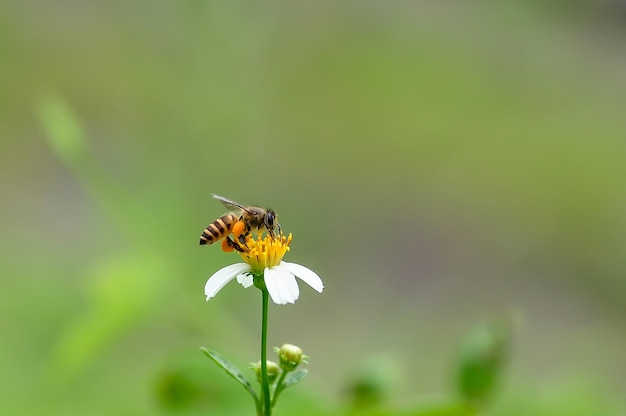
[[[222,215],[204,229],[200,236],[200,245],[213,244],[224,239],[222,247],[225,250],[226,247],[230,247],[237,251],[243,251],[241,245],[245,242],[246,236],[253,230],[263,231],[265,229],[272,238],[276,235],[276,229],[280,232],[278,217],[273,210],[245,206],[223,196],[211,195],[231,212]],[[235,240],[230,238],[230,234],[233,234]]]

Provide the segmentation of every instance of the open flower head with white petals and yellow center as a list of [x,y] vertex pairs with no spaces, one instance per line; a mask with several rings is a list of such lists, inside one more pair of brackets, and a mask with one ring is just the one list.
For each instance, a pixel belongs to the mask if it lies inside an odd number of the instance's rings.
[[300,295],[296,277],[317,292],[324,290],[322,279],[311,269],[282,261],[289,251],[292,236],[284,235],[257,239],[248,237],[244,251],[239,253],[245,263],[236,263],[218,270],[204,286],[207,300],[214,297],[228,282],[237,278],[243,287],[254,284],[254,276],[262,276],[272,301],[278,305],[294,303]]

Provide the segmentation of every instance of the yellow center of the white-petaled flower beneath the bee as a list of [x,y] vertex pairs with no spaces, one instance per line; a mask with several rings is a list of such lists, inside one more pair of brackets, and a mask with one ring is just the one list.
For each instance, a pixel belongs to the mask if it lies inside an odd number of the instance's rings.
[[256,239],[249,235],[242,247],[244,251],[239,255],[250,265],[252,273],[262,273],[266,267],[280,264],[285,253],[289,251],[291,239],[291,233],[287,237],[280,233],[274,238],[259,234]]

